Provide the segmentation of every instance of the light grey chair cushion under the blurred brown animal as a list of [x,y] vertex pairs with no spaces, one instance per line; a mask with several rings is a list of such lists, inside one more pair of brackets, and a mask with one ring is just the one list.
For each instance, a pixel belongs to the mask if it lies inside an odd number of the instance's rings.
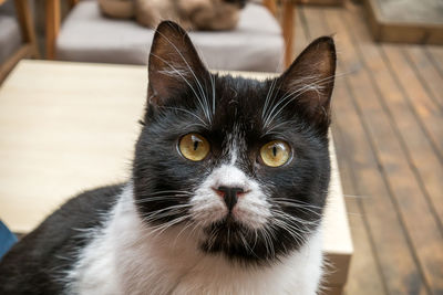
[[[104,18],[95,1],[85,0],[64,21],[56,54],[66,61],[146,64],[153,35],[135,21]],[[248,4],[234,31],[192,32],[190,39],[210,69],[280,70],[281,29],[261,6]]]

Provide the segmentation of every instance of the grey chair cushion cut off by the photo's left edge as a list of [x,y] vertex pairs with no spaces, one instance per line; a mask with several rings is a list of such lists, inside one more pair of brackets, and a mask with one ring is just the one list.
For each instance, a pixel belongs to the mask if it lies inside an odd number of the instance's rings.
[[21,45],[21,31],[16,18],[0,13],[0,64]]

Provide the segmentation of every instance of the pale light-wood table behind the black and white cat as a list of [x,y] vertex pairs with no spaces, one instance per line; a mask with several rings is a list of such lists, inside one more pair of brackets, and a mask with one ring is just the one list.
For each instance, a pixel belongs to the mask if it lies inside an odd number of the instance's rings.
[[[0,88],[0,219],[27,233],[83,189],[127,179],[146,86],[146,66],[20,62]],[[331,151],[323,249],[327,294],[340,294],[352,242]]]

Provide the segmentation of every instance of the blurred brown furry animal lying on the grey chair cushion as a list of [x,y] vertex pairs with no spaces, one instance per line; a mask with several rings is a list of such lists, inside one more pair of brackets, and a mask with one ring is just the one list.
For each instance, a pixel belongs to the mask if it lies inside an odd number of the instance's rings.
[[231,30],[246,0],[99,0],[99,4],[107,17],[135,18],[147,28],[173,20],[186,30]]

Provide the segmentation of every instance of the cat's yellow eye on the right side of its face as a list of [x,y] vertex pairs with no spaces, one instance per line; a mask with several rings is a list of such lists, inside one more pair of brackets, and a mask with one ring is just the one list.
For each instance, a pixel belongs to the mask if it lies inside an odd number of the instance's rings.
[[272,140],[260,148],[262,162],[269,167],[279,167],[286,164],[291,155],[291,149],[284,140]]

